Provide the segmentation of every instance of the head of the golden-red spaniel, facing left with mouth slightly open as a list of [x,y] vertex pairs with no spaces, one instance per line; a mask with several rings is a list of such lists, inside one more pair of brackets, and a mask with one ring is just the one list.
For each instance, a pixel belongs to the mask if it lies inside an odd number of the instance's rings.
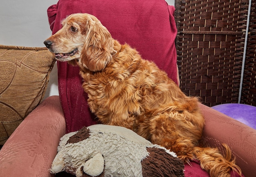
[[103,70],[112,60],[114,40],[109,31],[93,15],[76,13],[62,21],[63,28],[45,40],[45,46],[59,61],[91,71]]

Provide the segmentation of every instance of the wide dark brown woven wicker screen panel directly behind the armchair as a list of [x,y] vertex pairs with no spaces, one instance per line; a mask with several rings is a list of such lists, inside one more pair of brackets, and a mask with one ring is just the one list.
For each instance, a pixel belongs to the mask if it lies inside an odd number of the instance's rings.
[[207,106],[238,103],[248,0],[176,0],[184,93]]

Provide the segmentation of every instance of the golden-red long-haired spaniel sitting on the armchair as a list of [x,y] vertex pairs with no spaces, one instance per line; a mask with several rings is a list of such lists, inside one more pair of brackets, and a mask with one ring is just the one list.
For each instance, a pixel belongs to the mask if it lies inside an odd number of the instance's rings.
[[113,39],[95,16],[72,14],[62,25],[44,44],[57,60],[79,66],[100,123],[131,129],[185,163],[197,159],[211,177],[229,177],[231,169],[241,175],[226,144],[225,156],[200,146],[204,118],[197,97],[186,96],[155,63]]

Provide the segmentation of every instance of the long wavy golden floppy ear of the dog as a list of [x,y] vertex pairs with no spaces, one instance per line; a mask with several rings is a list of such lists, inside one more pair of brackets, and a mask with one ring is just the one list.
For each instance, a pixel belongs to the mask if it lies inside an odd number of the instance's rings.
[[107,28],[89,16],[80,64],[90,71],[101,71],[112,60],[113,51],[113,39]]

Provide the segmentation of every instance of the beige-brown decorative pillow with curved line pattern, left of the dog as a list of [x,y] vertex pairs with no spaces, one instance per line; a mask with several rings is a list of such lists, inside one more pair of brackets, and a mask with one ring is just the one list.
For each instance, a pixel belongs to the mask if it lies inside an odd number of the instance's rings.
[[0,145],[42,101],[54,58],[47,48],[0,45]]

